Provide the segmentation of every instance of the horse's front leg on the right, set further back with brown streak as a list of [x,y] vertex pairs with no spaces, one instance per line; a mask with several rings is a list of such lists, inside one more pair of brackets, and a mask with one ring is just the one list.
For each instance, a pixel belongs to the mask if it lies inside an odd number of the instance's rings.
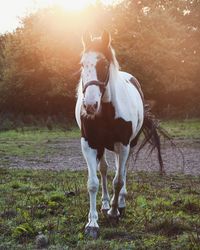
[[[113,180],[113,197],[111,199],[111,209],[108,211],[108,216],[114,222],[118,221],[120,216],[118,210],[118,201],[124,198],[126,193],[125,185],[125,176],[126,176],[126,162],[128,159],[130,151],[130,146],[124,146],[121,143],[115,145],[115,162],[116,162],[116,174]],[[120,194],[121,191],[121,194]],[[120,196],[119,196],[120,195]],[[122,207],[125,206],[124,199],[122,199],[121,204]]]

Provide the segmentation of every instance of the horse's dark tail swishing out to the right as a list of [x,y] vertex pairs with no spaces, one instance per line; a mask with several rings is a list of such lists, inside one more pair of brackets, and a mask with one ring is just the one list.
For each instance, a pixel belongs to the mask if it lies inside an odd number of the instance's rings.
[[[147,144],[150,143],[151,145],[151,151],[150,153],[156,148],[157,154],[158,154],[158,161],[160,165],[160,173],[163,174],[164,171],[164,164],[161,154],[161,142],[160,137],[164,137],[168,141],[171,142],[171,144],[175,145],[173,143],[173,140],[171,136],[165,131],[160,125],[157,119],[155,119],[154,115],[152,114],[149,105],[145,105],[144,108],[144,122],[142,125],[142,128],[140,130],[140,134],[144,134],[144,139],[140,144],[140,147],[136,153],[136,158],[139,153],[139,151]],[[140,137],[140,134],[138,137]]]

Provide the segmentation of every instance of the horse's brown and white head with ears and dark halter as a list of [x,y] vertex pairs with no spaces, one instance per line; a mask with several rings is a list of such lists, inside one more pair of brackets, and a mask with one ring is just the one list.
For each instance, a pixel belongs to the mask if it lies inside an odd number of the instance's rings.
[[104,31],[101,37],[92,39],[87,32],[82,41],[83,107],[87,115],[94,116],[101,110],[101,99],[109,81],[109,66],[112,61],[111,37]]

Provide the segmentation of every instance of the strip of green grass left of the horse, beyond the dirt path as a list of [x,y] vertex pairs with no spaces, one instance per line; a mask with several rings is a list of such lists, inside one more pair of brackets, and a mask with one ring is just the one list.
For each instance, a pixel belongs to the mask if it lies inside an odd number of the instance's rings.
[[78,127],[68,130],[27,128],[19,131],[8,130],[0,132],[0,156],[9,157],[42,157],[46,154],[56,154],[56,148],[48,147],[48,143],[80,138]]

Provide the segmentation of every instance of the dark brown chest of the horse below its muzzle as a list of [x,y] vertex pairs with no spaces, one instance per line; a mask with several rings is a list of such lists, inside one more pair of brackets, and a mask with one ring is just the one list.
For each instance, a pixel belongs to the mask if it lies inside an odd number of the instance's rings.
[[100,116],[94,119],[81,117],[81,132],[89,146],[97,150],[98,158],[101,158],[105,148],[113,151],[115,143],[129,143],[132,123],[122,118],[115,119],[113,105],[104,103]]

